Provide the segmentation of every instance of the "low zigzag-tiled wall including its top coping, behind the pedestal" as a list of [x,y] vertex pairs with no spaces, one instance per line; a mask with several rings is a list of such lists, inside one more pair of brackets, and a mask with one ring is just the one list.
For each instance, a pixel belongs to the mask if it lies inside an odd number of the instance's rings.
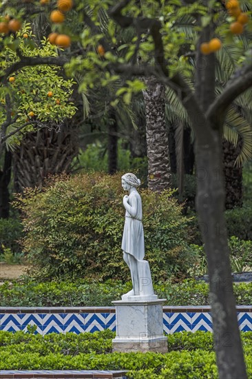
[[[238,306],[240,330],[252,331],[252,306]],[[36,325],[36,332],[42,335],[72,331],[116,329],[114,307],[43,307],[3,308],[0,307],[0,330],[28,330]],[[212,331],[210,307],[163,307],[163,325],[167,334],[176,331]]]

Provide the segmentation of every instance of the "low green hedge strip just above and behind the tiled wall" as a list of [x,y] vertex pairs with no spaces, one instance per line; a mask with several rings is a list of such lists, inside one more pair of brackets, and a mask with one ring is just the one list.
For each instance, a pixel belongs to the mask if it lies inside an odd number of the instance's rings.
[[[105,283],[6,281],[0,287],[0,303],[2,307],[105,307],[112,306],[112,301],[120,299],[131,285],[119,280]],[[237,304],[252,303],[252,283],[240,283],[233,288]],[[209,285],[202,281],[185,280],[178,284],[167,281],[154,284],[154,290],[159,298],[167,298],[167,305],[209,305]]]

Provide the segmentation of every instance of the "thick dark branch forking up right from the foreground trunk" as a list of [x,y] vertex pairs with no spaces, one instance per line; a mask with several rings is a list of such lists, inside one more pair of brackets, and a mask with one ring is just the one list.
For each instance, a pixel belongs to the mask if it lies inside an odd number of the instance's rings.
[[242,92],[248,90],[252,86],[252,66],[246,65],[242,69],[235,72],[235,74],[229,79],[223,92],[218,98],[213,101],[207,110],[207,118],[210,121],[216,121],[221,119],[231,105],[231,103]]

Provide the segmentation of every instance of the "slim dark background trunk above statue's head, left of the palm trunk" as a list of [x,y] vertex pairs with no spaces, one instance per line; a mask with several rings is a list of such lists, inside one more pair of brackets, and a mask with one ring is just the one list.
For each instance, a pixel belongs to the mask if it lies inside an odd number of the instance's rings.
[[114,112],[109,114],[109,135],[107,141],[107,150],[109,158],[109,174],[114,174],[117,170],[117,142],[118,142],[118,126],[116,115]]

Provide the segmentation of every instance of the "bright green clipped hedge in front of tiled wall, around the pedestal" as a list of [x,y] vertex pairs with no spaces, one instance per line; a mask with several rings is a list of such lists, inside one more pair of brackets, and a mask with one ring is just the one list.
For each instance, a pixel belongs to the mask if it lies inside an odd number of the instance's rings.
[[[25,334],[0,332],[0,369],[127,370],[129,378],[217,379],[212,334],[183,331],[167,336],[169,353],[112,353],[114,333]],[[221,342],[221,341],[220,341]],[[249,375],[252,333],[242,333]]]

